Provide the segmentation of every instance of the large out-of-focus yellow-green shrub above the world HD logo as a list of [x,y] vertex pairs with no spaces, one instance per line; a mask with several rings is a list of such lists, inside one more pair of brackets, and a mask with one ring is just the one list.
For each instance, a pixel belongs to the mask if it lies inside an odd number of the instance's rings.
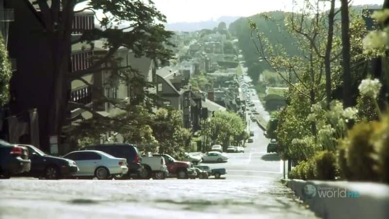
[[349,180],[377,181],[378,174],[374,170],[377,161],[376,152],[371,141],[374,129],[380,128],[380,123],[361,122],[350,131],[348,138],[342,142],[341,147],[346,149],[347,167],[350,171]]

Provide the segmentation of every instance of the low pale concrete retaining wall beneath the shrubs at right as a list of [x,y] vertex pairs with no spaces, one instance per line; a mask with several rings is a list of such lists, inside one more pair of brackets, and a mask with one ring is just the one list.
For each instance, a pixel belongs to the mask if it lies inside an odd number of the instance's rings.
[[[286,180],[286,183],[296,196],[323,219],[389,219],[389,185],[303,180]],[[313,198],[307,197],[303,192],[307,184],[316,188]],[[333,189],[333,192],[327,193],[327,196],[335,194],[335,197],[323,198],[318,195],[318,192],[321,192],[322,196],[323,192],[329,189]]]

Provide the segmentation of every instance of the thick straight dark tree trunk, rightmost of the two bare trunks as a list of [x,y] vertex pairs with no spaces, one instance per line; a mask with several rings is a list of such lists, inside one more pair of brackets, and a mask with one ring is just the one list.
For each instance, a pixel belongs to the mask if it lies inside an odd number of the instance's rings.
[[350,33],[348,0],[341,0],[342,44],[343,44],[343,106],[351,107],[351,68],[350,68]]

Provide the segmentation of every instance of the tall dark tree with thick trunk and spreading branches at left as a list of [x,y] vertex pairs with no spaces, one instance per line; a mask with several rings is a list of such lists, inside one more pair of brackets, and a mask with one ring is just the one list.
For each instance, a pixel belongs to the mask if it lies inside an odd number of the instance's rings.
[[[51,0],[51,4],[47,0],[37,1],[22,1],[27,4],[28,8],[35,15],[37,21],[44,28],[47,42],[50,47],[52,60],[46,63],[47,69],[53,73],[54,80],[48,82],[48,92],[51,93],[51,98],[47,104],[49,111],[47,133],[43,135],[59,135],[62,131],[62,126],[66,118],[68,109],[70,90],[69,85],[72,80],[82,80],[87,73],[99,72],[102,70],[116,70],[116,77],[127,79],[128,73],[136,73],[137,71],[125,67],[102,67],[102,64],[107,62],[115,62],[113,55],[120,47],[126,47],[132,50],[137,57],[145,55],[152,59],[167,61],[170,58],[171,51],[165,48],[165,45],[172,45],[168,38],[172,36],[172,32],[164,30],[163,22],[166,22],[163,16],[154,6],[152,1],[140,0],[90,0],[88,6],[80,11],[75,11],[74,7],[78,3],[86,0]],[[38,8],[38,9],[36,9]],[[85,31],[79,40],[71,41],[72,21],[74,14],[84,10],[102,10],[105,17],[99,19],[102,29],[93,29]],[[126,27],[115,29],[115,26],[125,24]],[[87,41],[92,43],[96,39],[106,39],[107,53],[104,57],[93,57],[94,61],[87,70],[81,70],[69,74],[68,63],[69,54],[71,53],[71,44],[79,41]],[[126,69],[126,71],[121,71]],[[71,75],[71,76],[70,76]],[[51,84],[50,84],[51,83]],[[101,93],[102,99],[105,102],[111,102],[115,106],[117,102],[106,98]],[[94,117],[104,120],[98,113],[84,105],[71,103],[72,106],[90,111]],[[41,130],[44,132],[44,130]],[[42,134],[42,133],[41,133]],[[43,145],[48,145],[48,137],[41,141]]]

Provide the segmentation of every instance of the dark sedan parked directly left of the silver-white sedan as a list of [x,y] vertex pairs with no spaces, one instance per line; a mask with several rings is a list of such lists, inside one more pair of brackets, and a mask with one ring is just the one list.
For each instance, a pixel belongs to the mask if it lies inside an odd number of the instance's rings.
[[24,146],[28,149],[31,160],[30,172],[23,175],[57,180],[63,177],[73,176],[78,171],[78,167],[73,160],[50,156],[32,145],[19,146]]

